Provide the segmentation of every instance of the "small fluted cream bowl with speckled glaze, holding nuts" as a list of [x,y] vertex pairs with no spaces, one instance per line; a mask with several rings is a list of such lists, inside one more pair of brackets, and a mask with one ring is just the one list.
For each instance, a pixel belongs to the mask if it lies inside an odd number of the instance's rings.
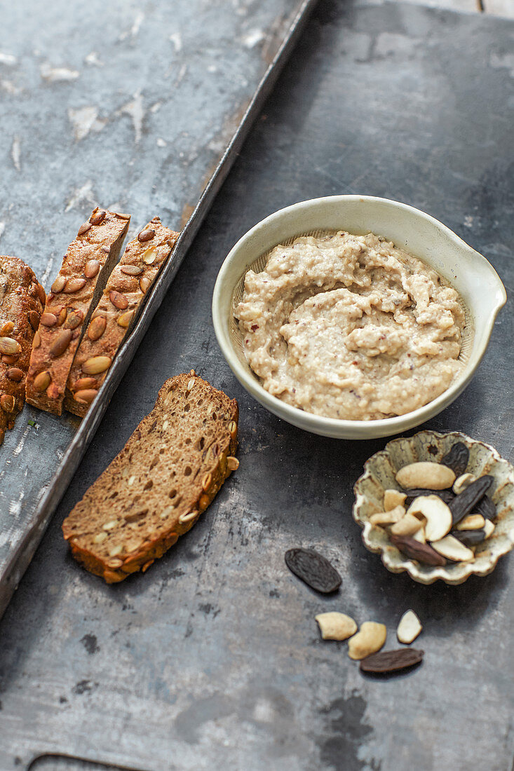
[[[455,442],[463,442],[469,449],[467,471],[494,477],[489,496],[495,503],[497,517],[492,535],[478,544],[475,560],[431,567],[405,557],[389,540],[387,530],[373,527],[370,516],[384,510],[384,490],[401,490],[395,475],[402,466],[420,460],[440,461]],[[375,453],[364,464],[364,474],[353,487],[353,519],[363,528],[362,540],[370,551],[380,554],[391,573],[407,573],[420,584],[433,584],[441,579],[445,584],[462,584],[470,575],[491,573],[502,557],[514,545],[514,468],[496,452],[494,447],[452,431],[441,434],[421,431],[407,439],[393,439],[380,453]]]

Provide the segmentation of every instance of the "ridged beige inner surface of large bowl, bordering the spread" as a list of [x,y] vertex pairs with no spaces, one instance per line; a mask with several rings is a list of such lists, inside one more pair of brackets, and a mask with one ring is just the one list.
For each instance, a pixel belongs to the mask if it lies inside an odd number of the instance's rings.
[[[254,273],[261,273],[264,270],[266,263],[268,262],[269,255],[272,253],[273,249],[275,249],[277,246],[291,246],[293,242],[296,241],[296,238],[300,238],[303,236],[313,236],[314,238],[321,238],[323,236],[335,235],[337,232],[339,231],[337,230],[306,231],[303,233],[298,233],[295,236],[288,238],[286,241],[280,241],[278,244],[275,244],[275,246],[273,246],[271,249],[268,249],[267,251],[260,254],[259,257],[252,262],[249,268],[246,268],[245,271],[243,271],[243,273],[239,277],[239,280],[232,288],[232,298],[231,298],[231,304],[230,304],[230,307],[232,308],[232,315],[230,318],[230,339],[234,347],[235,354],[237,355],[239,361],[242,363],[245,369],[248,370],[250,375],[252,375],[257,381],[260,382],[260,378],[258,377],[258,375],[255,375],[255,372],[253,372],[253,370],[250,368],[250,365],[246,359],[245,350],[243,348],[243,343],[242,343],[242,333],[239,329],[238,320],[237,318],[235,318],[235,309],[242,301],[243,292],[245,291],[245,275],[248,273],[248,271],[254,271]],[[365,235],[365,234],[362,234],[362,235]],[[380,233],[377,233],[376,235],[380,235]],[[416,254],[414,254],[413,256],[417,257],[418,260],[421,260],[421,258],[419,258]],[[421,262],[423,262],[423,260],[421,260]],[[458,355],[458,360],[465,365],[468,363],[469,355],[473,347],[474,324],[472,320],[471,311],[469,310],[468,306],[465,304],[465,301],[462,299],[461,295],[458,295],[458,302],[460,303],[465,316],[465,326],[464,326],[464,329],[462,330],[461,352]]]

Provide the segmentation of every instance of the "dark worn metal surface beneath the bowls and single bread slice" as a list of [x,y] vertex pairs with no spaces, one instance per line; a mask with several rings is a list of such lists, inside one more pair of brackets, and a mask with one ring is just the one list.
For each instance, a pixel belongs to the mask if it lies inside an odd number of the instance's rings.
[[[512,35],[478,16],[320,3],[2,619],[2,771],[55,752],[145,771],[511,769],[514,557],[455,588],[388,574],[350,517],[353,481],[385,440],[311,436],[265,412],[221,359],[209,305],[230,247],[281,206],[361,192],[427,210],[509,293],[475,379],[428,426],[512,460]],[[159,385],[191,366],[239,400],[241,467],[144,577],[107,587],[69,557],[60,524]],[[340,594],[286,571],[296,545],[333,560]],[[386,682],[361,677],[313,621],[384,621],[394,647],[407,608],[425,660]]]

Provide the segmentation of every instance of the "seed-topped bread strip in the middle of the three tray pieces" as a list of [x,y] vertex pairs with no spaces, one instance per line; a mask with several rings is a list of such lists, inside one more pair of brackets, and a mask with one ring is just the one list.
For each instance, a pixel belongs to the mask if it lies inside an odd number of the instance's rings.
[[56,415],[63,412],[73,356],[120,255],[129,223],[128,214],[97,207],[69,244],[34,335],[25,388],[29,404]]

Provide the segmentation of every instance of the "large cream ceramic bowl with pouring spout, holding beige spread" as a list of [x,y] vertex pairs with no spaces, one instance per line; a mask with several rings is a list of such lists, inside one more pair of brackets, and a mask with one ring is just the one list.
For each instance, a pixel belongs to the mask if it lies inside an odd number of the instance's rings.
[[[382,420],[340,420],[304,412],[265,391],[245,359],[234,309],[242,295],[246,271],[262,270],[269,251],[277,244],[299,235],[337,230],[357,235],[373,232],[393,241],[446,278],[465,305],[462,374],[437,399],[406,415]],[[419,426],[457,398],[472,379],[487,348],[496,315],[505,302],[505,288],[492,265],[434,217],[385,198],[342,195],[306,200],[276,211],[240,238],[218,273],[212,318],[218,343],[232,372],[263,406],[293,426],[322,436],[372,439]]]

